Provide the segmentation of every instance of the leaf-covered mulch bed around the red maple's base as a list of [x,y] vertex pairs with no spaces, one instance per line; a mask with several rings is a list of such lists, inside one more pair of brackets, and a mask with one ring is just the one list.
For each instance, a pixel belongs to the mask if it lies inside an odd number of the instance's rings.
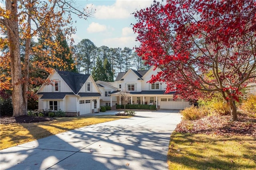
[[256,117],[238,115],[238,121],[232,121],[230,118],[230,115],[214,115],[193,121],[182,120],[177,125],[175,131],[206,135],[245,135],[256,137]]

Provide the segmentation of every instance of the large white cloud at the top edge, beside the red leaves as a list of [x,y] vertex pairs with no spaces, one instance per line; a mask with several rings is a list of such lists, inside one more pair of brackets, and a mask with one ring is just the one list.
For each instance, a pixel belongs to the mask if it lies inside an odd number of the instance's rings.
[[131,14],[152,4],[152,0],[116,0],[111,6],[93,6],[96,9],[95,17],[98,19],[124,19]]

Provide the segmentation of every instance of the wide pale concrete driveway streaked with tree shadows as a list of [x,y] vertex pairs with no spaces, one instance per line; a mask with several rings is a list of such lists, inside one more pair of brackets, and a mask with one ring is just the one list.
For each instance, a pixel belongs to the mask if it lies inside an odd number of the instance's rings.
[[168,169],[170,134],[181,120],[178,110],[136,113],[0,150],[0,169]]

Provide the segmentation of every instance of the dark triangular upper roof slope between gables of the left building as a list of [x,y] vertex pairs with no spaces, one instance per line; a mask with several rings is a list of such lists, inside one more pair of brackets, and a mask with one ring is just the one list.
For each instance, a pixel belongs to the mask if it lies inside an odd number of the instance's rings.
[[68,84],[71,90],[77,94],[79,90],[82,88],[90,74],[80,74],[76,72],[70,71],[60,71],[56,70],[61,78]]

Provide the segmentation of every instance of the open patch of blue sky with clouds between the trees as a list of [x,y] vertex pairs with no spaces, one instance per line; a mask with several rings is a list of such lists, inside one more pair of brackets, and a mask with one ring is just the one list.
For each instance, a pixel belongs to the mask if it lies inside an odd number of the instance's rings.
[[131,23],[136,23],[132,13],[146,8],[153,0],[77,0],[76,5],[96,9],[96,13],[88,18],[76,20],[76,34],[73,35],[77,44],[82,39],[90,39],[97,47],[129,47],[138,46],[136,34]]

